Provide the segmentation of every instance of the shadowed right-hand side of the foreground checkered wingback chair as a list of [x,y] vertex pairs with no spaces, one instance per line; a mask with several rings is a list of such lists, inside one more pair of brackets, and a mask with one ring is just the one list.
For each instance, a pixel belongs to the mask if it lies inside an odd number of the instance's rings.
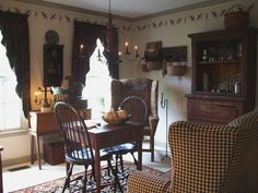
[[223,192],[258,192],[258,109],[230,122],[242,132]]

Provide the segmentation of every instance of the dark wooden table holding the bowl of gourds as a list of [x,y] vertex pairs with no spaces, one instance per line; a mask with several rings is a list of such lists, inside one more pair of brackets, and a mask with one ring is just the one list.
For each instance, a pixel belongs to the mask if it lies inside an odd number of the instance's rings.
[[138,170],[142,170],[142,140],[143,126],[134,123],[104,124],[89,130],[92,147],[95,150],[95,178],[97,192],[101,192],[101,156],[102,148],[112,147],[118,144],[136,142],[138,145]]

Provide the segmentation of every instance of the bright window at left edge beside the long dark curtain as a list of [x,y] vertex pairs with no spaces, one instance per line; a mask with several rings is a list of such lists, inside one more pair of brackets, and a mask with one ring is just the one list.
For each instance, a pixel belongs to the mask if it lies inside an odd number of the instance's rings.
[[5,47],[0,44],[0,132],[22,129],[24,121],[22,102],[15,93],[16,77],[5,52]]

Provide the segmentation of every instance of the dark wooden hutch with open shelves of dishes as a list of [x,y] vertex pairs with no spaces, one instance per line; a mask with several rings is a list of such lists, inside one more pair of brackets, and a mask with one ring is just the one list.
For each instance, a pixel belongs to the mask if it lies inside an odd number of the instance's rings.
[[188,35],[191,38],[191,94],[188,121],[225,124],[255,108],[257,28]]

